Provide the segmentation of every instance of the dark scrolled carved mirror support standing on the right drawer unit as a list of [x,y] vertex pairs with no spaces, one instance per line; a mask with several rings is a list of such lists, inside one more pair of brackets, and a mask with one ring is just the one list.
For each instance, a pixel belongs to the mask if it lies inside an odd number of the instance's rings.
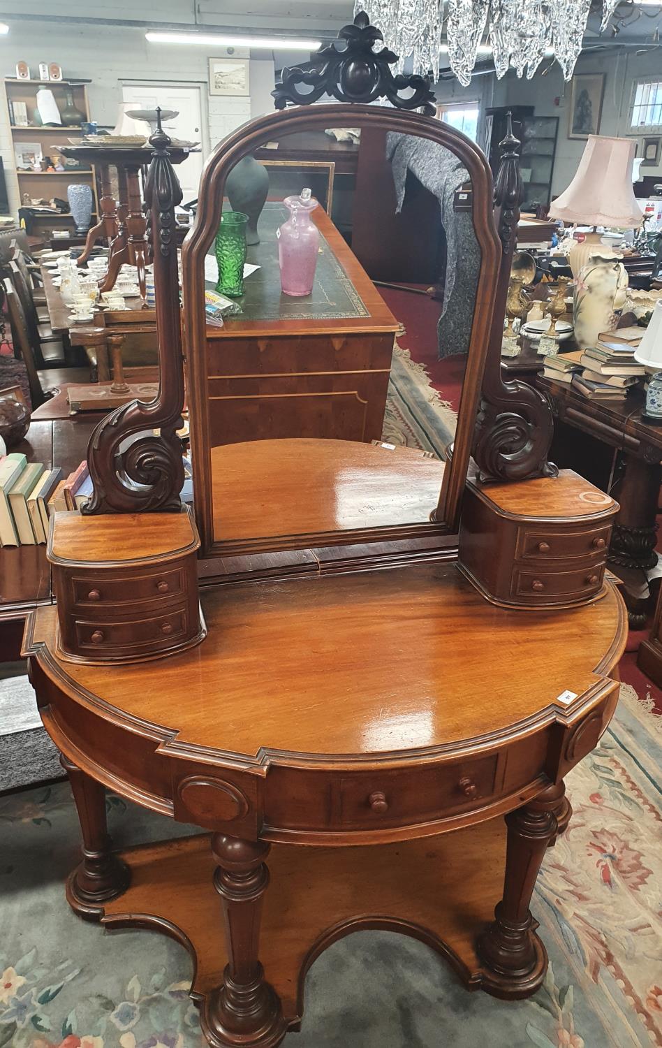
[[500,144],[501,167],[494,184],[495,220],[503,254],[472,446],[481,481],[527,480],[555,477],[558,473],[547,461],[553,434],[549,400],[518,379],[504,381],[501,371],[503,321],[522,195],[518,147],[508,114],[508,131]]

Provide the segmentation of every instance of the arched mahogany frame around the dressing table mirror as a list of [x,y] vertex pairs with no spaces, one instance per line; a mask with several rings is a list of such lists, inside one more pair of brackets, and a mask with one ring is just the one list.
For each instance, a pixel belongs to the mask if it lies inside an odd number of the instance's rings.
[[[264,141],[297,131],[328,127],[370,125],[384,131],[395,131],[426,138],[450,150],[466,168],[471,181],[472,221],[481,248],[481,267],[476,290],[471,335],[462,387],[458,427],[453,456],[446,462],[438,506],[431,506],[434,519],[424,523],[387,526],[366,531],[338,531],[331,542],[329,533],[318,537],[265,536],[259,540],[231,543],[214,534],[212,507],[211,444],[208,437],[208,401],[206,389],[206,318],[204,302],[204,257],[211,247],[220,222],[223,193],[227,175],[244,156],[255,152]],[[243,125],[224,138],[208,157],[200,180],[196,222],[182,247],[183,332],[187,372],[193,483],[196,493],[195,514],[201,555],[295,549],[313,545],[347,545],[360,542],[389,542],[393,539],[457,533],[460,504],[471,454],[481,395],[481,384],[487,358],[493,306],[500,278],[502,244],[492,210],[493,183],[490,168],[475,143],[449,125],[432,116],[400,111],[382,106],[354,103],[333,103],[318,106],[297,106],[282,112],[268,113]],[[187,308],[187,303],[195,303]],[[335,536],[335,533],[334,533]]]

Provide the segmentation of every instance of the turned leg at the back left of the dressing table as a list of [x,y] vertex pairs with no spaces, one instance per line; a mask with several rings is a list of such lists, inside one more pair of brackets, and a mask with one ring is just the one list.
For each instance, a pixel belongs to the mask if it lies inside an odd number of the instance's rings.
[[67,899],[81,916],[95,917],[104,902],[126,891],[130,874],[112,852],[104,786],[66,757],[61,758],[61,763],[69,777],[83,834],[83,861],[67,881]]

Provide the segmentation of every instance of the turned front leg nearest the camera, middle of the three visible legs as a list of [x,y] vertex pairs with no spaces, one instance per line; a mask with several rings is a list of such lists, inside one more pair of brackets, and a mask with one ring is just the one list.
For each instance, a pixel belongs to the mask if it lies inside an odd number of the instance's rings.
[[275,992],[258,960],[262,899],[269,883],[264,858],[270,846],[223,833],[212,837],[218,863],[214,887],[221,896],[229,963],[222,985],[201,1012],[204,1034],[218,1048],[274,1048],[287,1032]]

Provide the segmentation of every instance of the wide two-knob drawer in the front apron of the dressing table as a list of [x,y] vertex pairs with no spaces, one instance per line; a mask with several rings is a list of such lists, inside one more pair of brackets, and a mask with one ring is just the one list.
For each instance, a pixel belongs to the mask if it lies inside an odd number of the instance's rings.
[[340,822],[365,829],[407,826],[480,806],[493,792],[495,771],[494,756],[434,768],[345,776]]

